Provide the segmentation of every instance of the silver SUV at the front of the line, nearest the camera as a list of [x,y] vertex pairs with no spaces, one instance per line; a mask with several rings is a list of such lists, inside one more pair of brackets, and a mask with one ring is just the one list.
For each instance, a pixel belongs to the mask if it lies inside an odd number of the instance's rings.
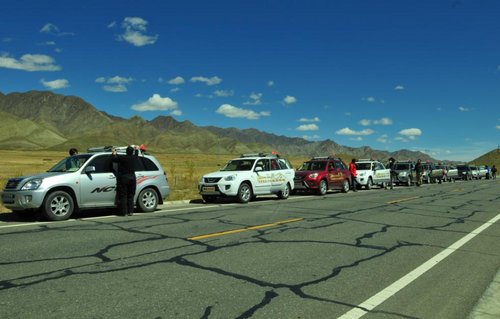
[[[116,207],[116,164],[113,147],[97,147],[62,159],[45,173],[9,178],[1,198],[14,212],[41,211],[49,220],[65,220],[74,212]],[[117,148],[118,154],[124,147]],[[170,193],[167,175],[151,154],[136,161],[136,207],[151,212]]]

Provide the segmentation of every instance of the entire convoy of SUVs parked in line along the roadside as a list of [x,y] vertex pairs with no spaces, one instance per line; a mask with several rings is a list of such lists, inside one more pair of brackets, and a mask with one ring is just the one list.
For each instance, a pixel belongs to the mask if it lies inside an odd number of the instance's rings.
[[[9,178],[1,192],[3,205],[14,212],[39,211],[49,220],[65,220],[76,211],[116,207],[116,166],[113,147],[91,148],[87,153],[62,159],[45,173]],[[122,148],[124,149],[124,148]],[[386,188],[391,174],[396,185],[411,186],[416,181],[415,163],[396,162],[393,170],[377,160],[358,160],[358,188],[374,185]],[[422,163],[423,180],[450,182],[456,179],[488,178],[486,166]],[[141,152],[136,161],[136,208],[150,212],[170,193],[167,176],[158,160]],[[259,195],[275,194],[287,199],[293,192],[325,195],[329,190],[347,193],[351,186],[349,168],[342,159],[313,157],[295,170],[276,154],[243,154],[219,171],[205,174],[198,191],[204,202],[232,198],[247,203]]]

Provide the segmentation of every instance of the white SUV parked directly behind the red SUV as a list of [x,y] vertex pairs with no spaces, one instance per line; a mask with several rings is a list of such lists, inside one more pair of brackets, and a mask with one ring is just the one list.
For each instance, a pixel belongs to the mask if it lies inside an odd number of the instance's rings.
[[385,188],[391,179],[391,170],[376,160],[356,161],[356,172],[358,185],[366,189],[371,189],[373,185]]

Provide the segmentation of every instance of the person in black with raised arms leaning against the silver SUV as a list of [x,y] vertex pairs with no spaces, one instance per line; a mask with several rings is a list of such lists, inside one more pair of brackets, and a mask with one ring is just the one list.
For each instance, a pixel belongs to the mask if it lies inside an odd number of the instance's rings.
[[116,155],[112,150],[112,161],[118,163],[116,174],[116,192],[118,197],[118,210],[123,216],[134,213],[134,196],[136,188],[135,167],[137,156],[132,146],[128,146],[126,155]]

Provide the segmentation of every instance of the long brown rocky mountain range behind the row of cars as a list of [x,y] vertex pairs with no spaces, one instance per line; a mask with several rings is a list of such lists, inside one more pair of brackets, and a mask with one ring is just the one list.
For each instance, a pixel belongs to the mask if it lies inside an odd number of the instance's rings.
[[151,121],[124,119],[97,110],[83,99],[45,91],[0,93],[0,149],[86,149],[99,145],[144,143],[171,153],[238,154],[279,151],[287,155],[349,154],[356,158],[432,160],[421,152],[352,148],[331,140],[312,142],[256,129],[199,127],[159,116]]

